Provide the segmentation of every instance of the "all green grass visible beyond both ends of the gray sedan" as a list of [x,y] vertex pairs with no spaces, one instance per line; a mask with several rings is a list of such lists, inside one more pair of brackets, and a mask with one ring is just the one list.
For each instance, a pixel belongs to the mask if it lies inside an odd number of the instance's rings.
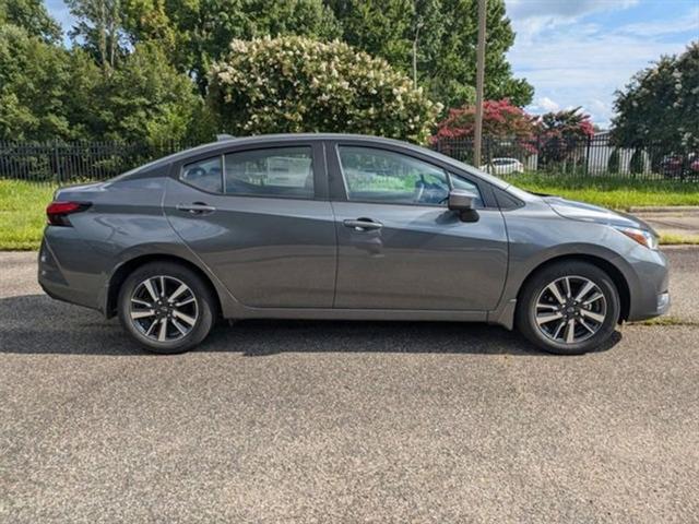
[[[558,194],[617,210],[643,205],[699,205],[699,183],[602,177],[567,179],[531,174],[510,177],[510,181],[529,191]],[[45,183],[0,180],[0,250],[38,248],[46,223],[46,204],[55,189]],[[699,245],[699,237],[664,235],[661,243]]]

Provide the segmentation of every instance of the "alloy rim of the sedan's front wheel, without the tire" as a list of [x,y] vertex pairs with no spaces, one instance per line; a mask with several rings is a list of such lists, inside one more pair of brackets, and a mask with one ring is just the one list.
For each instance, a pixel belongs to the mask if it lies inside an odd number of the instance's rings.
[[604,294],[584,276],[557,278],[545,286],[536,299],[538,330],[559,344],[577,344],[594,336],[606,314]]

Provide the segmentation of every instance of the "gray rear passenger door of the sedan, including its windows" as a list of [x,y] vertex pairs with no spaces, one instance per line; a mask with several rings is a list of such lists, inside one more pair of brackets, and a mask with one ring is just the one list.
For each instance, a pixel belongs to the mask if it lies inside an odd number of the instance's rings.
[[174,166],[175,230],[242,305],[331,308],[336,243],[322,143],[264,143]]

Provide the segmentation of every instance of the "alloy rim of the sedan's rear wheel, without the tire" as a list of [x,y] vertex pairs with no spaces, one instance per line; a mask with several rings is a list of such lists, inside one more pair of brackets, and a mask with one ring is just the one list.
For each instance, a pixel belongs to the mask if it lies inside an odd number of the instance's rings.
[[142,335],[153,342],[173,342],[194,329],[199,305],[194,293],[182,281],[157,275],[135,286],[129,314]]

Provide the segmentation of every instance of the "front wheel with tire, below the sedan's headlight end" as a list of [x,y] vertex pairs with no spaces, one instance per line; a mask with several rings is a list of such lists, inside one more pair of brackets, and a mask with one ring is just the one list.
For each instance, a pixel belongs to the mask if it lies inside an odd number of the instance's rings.
[[580,355],[614,333],[619,294],[609,276],[587,262],[561,262],[536,273],[518,300],[517,326],[541,349]]

